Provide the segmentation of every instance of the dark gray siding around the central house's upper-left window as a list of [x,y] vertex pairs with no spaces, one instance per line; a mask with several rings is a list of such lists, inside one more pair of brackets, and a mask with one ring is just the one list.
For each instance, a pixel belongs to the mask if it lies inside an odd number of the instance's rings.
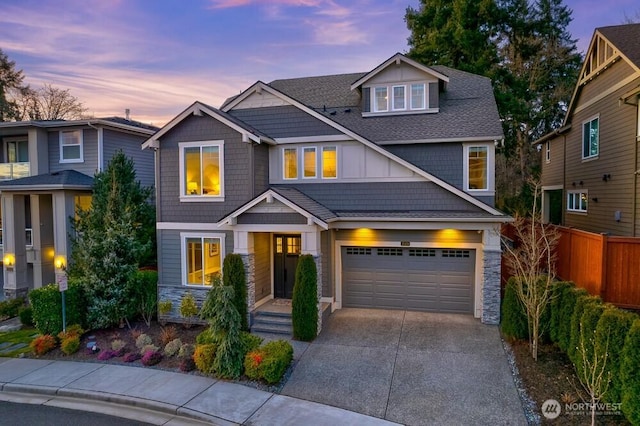
[[[181,142],[224,141],[224,202],[180,201]],[[224,215],[253,198],[250,143],[242,142],[237,131],[203,115],[189,116],[160,140],[159,220],[162,222],[216,223]]]

